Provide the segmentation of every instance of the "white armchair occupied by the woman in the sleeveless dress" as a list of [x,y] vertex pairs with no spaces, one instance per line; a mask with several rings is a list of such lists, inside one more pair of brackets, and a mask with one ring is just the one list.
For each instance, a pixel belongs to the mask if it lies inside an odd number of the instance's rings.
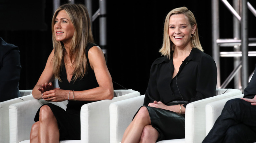
[[[136,96],[140,96],[138,91],[114,90],[112,100],[83,105],[81,108],[81,140],[66,140],[60,143],[109,142],[109,104]],[[34,99],[10,105],[10,143],[29,143],[35,113],[44,103],[49,102]],[[67,101],[51,103],[66,110]]]

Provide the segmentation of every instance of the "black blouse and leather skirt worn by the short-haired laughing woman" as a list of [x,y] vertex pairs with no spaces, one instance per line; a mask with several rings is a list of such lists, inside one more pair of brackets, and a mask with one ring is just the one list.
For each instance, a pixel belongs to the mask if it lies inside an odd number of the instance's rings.
[[143,104],[148,109],[151,125],[160,133],[158,141],[184,138],[185,115],[147,106],[149,103],[156,100],[165,105],[184,104],[186,107],[188,103],[214,96],[217,84],[213,58],[196,48],[191,50],[172,79],[172,54],[170,59],[164,56],[153,62]]

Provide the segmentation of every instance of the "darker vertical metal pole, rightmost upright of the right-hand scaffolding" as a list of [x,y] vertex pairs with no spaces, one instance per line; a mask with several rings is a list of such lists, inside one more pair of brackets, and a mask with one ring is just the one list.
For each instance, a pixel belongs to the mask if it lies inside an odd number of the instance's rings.
[[248,9],[247,0],[242,0],[242,19],[241,19],[241,37],[242,37],[242,86],[243,91],[248,85]]

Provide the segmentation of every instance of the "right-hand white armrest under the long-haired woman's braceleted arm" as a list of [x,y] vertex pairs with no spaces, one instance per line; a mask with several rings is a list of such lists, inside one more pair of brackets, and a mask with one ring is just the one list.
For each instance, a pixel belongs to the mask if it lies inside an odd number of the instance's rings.
[[134,90],[114,90],[112,100],[101,100],[81,107],[81,142],[109,142],[109,104],[140,96]]

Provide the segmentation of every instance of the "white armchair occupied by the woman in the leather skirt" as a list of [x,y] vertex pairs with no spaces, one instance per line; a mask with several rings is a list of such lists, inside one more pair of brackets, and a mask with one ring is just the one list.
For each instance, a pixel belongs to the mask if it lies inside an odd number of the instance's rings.
[[[185,139],[163,140],[158,143],[199,143],[205,135],[205,105],[213,101],[242,94],[238,89],[216,89],[217,96],[187,104],[185,116]],[[144,95],[111,103],[110,143],[119,143],[133,116],[143,104]]]

